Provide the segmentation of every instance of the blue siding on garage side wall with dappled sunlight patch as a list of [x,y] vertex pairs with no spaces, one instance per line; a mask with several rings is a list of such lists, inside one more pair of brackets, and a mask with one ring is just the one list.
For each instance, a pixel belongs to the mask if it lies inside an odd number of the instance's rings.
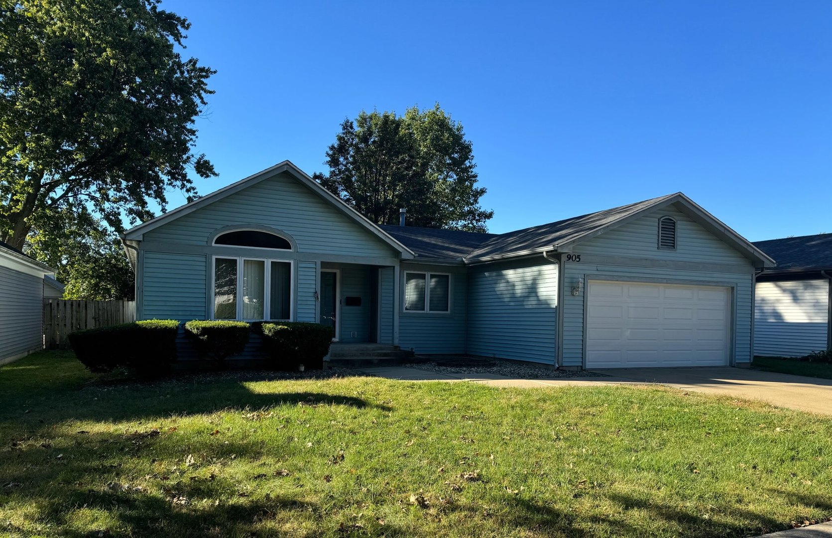
[[554,364],[556,339],[556,265],[541,257],[470,268],[468,353]]

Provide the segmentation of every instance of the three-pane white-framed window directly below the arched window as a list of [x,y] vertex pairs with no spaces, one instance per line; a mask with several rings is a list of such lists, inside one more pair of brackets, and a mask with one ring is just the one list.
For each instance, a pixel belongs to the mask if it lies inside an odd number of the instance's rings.
[[214,319],[291,321],[292,262],[217,256],[213,271]]

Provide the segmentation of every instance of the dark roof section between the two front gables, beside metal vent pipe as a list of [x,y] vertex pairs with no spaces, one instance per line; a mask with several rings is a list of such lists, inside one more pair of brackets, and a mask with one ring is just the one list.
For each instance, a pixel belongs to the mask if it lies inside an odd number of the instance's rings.
[[499,237],[496,233],[461,232],[441,228],[387,224],[379,227],[415,252],[417,257],[439,261],[461,262],[484,242]]

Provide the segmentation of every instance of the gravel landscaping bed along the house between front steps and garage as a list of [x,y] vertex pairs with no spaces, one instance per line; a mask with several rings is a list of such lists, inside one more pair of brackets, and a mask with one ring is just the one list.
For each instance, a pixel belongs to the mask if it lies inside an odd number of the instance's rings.
[[[453,366],[445,366],[453,365]],[[465,366],[463,366],[465,365]],[[438,374],[497,374],[519,379],[551,379],[553,377],[602,377],[591,371],[556,370],[552,366],[535,365],[527,362],[503,361],[500,359],[473,359],[470,357],[443,357],[424,362],[411,362],[401,366],[435,371]]]

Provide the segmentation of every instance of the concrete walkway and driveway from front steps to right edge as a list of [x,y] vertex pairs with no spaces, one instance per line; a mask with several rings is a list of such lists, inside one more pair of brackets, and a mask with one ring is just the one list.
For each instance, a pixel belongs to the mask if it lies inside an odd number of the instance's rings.
[[406,381],[472,381],[490,386],[523,388],[542,386],[602,386],[658,383],[685,391],[766,401],[780,407],[832,415],[832,380],[790,376],[745,368],[630,368],[602,370],[603,377],[552,377],[523,379],[478,374],[439,374],[420,368],[381,366],[363,368],[371,375]]

